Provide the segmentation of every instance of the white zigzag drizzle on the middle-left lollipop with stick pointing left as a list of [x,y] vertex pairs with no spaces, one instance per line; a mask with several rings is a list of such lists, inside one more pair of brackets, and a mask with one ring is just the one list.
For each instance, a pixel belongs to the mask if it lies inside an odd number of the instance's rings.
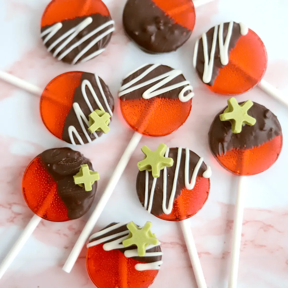
[[[96,79],[97,86],[98,86],[98,88],[99,88],[99,90],[100,90],[101,96],[102,96],[102,98],[103,98],[103,100],[104,100],[106,109],[107,109],[108,113],[109,113],[111,116],[113,116],[112,110],[111,110],[110,107],[109,107],[109,104],[108,104],[107,98],[106,98],[106,96],[105,96],[105,94],[104,94],[104,91],[103,91],[102,85],[101,85],[101,83],[100,83],[99,77],[98,77],[96,74],[95,74],[95,79]],[[98,105],[99,109],[101,109],[102,111],[105,111],[104,108],[103,108],[103,106],[101,105],[101,103],[100,103],[100,101],[99,101],[98,96],[96,95],[95,90],[93,89],[92,84],[90,83],[89,80],[86,80],[86,79],[85,79],[85,80],[82,81],[81,91],[82,91],[83,98],[84,98],[86,104],[88,105],[91,113],[92,113],[94,110],[93,110],[93,108],[92,108],[92,105],[91,105],[88,97],[87,97],[87,94],[86,94],[86,86],[87,86],[88,89],[90,90],[90,92],[91,92],[94,100],[96,101],[96,104]],[[77,102],[74,102],[74,103],[73,103],[73,109],[74,109],[74,112],[75,112],[75,114],[76,114],[76,117],[77,117],[77,119],[78,119],[78,121],[79,121],[79,124],[80,124],[80,126],[81,126],[81,128],[82,128],[82,131],[83,131],[83,133],[84,133],[87,141],[88,141],[89,143],[91,143],[91,142],[92,142],[92,139],[90,138],[90,136],[89,136],[89,134],[88,134],[88,128],[89,128],[88,122],[89,122],[89,120],[86,118],[85,114],[83,113],[81,107],[79,106],[79,104],[78,104]],[[85,125],[84,125],[83,121],[85,122],[87,128],[85,128]],[[69,137],[70,137],[70,141],[71,141],[71,143],[72,143],[73,145],[76,145],[75,139],[74,139],[74,137],[73,137],[73,134],[76,136],[76,138],[78,139],[78,141],[79,141],[79,143],[80,143],[81,145],[84,145],[84,144],[85,144],[84,141],[82,140],[81,136],[79,135],[77,129],[76,129],[74,126],[71,125],[71,126],[68,127],[68,134],[69,134]],[[97,135],[95,132],[93,133],[93,135],[95,136],[95,138],[98,138],[98,135]]]

